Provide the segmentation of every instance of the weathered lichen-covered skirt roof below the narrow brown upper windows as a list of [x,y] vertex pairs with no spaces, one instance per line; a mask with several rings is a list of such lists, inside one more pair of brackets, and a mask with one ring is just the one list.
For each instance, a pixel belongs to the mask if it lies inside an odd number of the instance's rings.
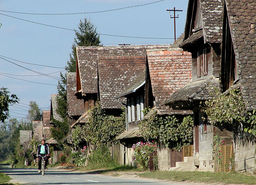
[[211,76],[208,79],[191,81],[175,92],[164,104],[173,104],[180,101],[208,100],[213,97],[215,88],[219,87],[219,78]]

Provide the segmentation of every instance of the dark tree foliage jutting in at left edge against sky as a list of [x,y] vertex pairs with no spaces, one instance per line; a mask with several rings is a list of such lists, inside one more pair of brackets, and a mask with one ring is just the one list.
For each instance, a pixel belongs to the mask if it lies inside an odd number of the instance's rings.
[[9,95],[7,88],[0,89],[0,121],[4,122],[4,119],[9,117],[9,106],[19,102],[19,98],[12,94]]

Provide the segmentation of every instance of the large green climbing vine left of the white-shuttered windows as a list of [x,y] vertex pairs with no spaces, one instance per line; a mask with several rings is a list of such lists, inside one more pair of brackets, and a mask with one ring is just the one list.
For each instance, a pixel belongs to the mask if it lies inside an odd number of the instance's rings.
[[84,126],[76,126],[72,132],[73,142],[77,145],[82,141],[90,141],[95,147],[110,142],[125,130],[125,112],[120,118],[107,115],[97,104],[88,112],[88,122]]

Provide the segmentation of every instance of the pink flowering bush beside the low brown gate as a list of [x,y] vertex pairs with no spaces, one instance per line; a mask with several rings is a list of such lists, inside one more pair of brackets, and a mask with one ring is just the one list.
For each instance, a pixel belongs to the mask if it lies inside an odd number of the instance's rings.
[[[157,146],[154,141],[152,142],[138,142],[132,145],[134,150],[133,161],[142,170],[148,170],[148,160],[150,158],[150,153],[157,152]],[[157,160],[157,158],[156,158]]]

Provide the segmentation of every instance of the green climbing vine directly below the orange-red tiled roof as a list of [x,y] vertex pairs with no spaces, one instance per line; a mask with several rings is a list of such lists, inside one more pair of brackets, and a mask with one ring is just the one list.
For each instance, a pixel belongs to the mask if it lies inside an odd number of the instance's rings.
[[148,119],[141,120],[139,127],[145,140],[159,140],[169,148],[182,148],[193,142],[191,116],[180,122],[174,115],[160,116],[155,111]]

